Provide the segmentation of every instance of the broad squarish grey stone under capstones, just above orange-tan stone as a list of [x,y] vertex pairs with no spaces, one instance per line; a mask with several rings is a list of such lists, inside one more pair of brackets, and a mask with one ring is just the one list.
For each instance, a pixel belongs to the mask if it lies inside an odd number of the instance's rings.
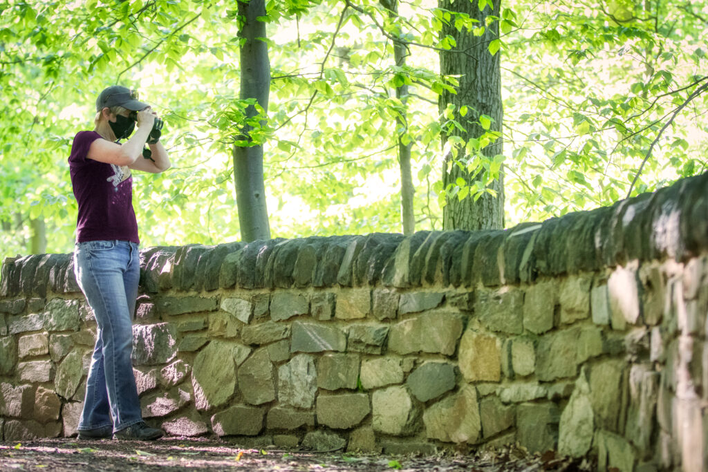
[[474,313],[489,330],[501,333],[523,333],[524,292],[513,287],[476,292]]

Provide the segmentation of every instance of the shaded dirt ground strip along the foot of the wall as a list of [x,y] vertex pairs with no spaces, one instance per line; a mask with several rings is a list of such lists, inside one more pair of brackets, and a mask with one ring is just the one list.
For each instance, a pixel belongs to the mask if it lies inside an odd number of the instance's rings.
[[0,442],[0,470],[58,472],[131,471],[579,471],[587,461],[546,454],[527,454],[513,447],[474,454],[437,456],[314,453],[241,449],[215,439],[169,437],[155,442],[79,441],[75,438]]

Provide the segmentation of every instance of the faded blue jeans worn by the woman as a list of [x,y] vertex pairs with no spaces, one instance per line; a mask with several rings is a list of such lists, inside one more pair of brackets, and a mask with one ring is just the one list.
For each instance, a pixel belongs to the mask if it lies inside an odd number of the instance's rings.
[[76,243],[74,272],[96,315],[86,398],[77,430],[113,425],[122,430],[142,421],[132,371],[132,314],[140,279],[140,255],[129,241]]

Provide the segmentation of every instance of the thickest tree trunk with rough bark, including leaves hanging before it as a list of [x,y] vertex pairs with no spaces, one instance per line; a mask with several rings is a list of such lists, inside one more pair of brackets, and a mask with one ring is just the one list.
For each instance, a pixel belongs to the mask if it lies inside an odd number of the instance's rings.
[[[501,229],[503,112],[500,54],[495,49],[500,0],[440,0],[438,5],[445,11],[441,38],[452,47],[440,51],[440,73],[459,81],[455,93],[440,94],[440,115],[448,123],[442,133],[447,191],[443,228]],[[476,23],[472,31],[456,23],[463,17]]]

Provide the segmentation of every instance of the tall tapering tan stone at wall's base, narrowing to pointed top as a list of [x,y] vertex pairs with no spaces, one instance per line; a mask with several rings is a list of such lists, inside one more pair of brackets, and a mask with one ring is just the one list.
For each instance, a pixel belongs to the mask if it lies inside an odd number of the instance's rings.
[[566,456],[583,457],[593,442],[595,422],[590,403],[590,386],[584,372],[578,376],[575,389],[561,413],[558,426],[558,451]]

